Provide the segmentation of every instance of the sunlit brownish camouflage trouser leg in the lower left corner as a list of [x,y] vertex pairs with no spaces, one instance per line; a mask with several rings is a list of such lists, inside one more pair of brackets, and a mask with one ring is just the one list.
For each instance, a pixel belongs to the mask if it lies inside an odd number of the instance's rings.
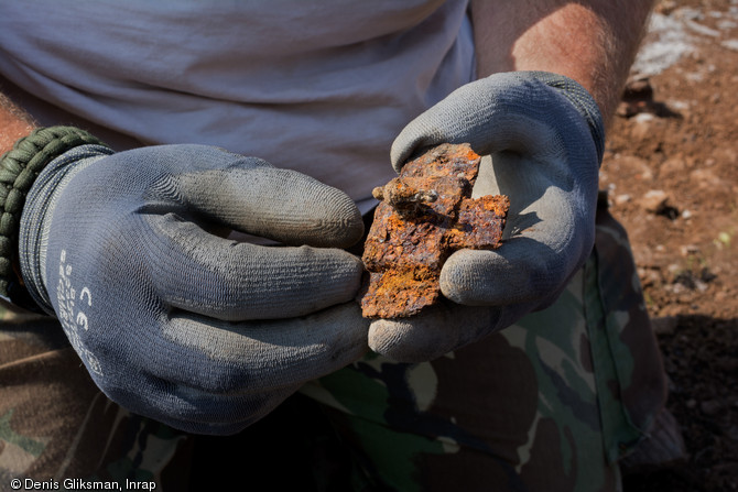
[[110,402],[55,319],[1,309],[0,491],[25,478],[187,490],[189,437]]

